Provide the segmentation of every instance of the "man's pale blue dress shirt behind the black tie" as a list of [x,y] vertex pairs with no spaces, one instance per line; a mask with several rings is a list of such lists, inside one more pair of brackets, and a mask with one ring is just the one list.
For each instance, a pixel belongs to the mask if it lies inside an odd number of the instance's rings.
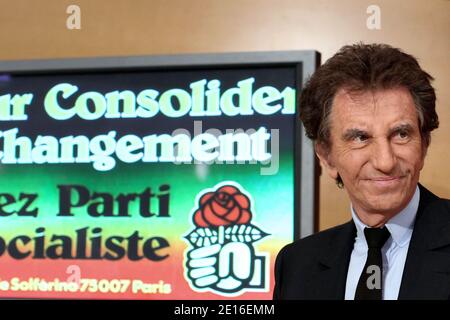
[[[408,205],[386,223],[391,237],[381,249],[383,258],[383,300],[396,300],[398,298],[419,200],[420,191],[419,187],[416,187],[416,191]],[[356,287],[366,264],[368,251],[364,236],[364,228],[367,226],[358,218],[353,207],[351,207],[351,210],[353,221],[356,225],[356,238],[347,273],[345,300],[353,300],[355,298]]]

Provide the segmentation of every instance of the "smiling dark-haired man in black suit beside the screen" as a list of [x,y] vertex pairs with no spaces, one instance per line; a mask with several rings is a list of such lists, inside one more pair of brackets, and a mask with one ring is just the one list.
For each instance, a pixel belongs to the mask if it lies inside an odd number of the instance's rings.
[[450,299],[450,201],[419,184],[431,80],[380,44],[345,46],[310,78],[300,117],[352,221],[280,251],[275,299]]

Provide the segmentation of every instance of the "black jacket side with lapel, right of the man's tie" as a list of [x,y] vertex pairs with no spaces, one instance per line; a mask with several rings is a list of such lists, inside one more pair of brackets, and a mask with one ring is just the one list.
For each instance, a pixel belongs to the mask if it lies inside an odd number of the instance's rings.
[[450,298],[450,214],[445,202],[419,185],[420,202],[399,299]]

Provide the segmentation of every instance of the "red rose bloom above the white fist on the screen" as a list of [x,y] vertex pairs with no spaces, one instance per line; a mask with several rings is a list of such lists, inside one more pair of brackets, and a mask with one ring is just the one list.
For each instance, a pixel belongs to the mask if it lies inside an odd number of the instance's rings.
[[197,227],[245,224],[252,218],[250,200],[238,188],[225,185],[200,198],[194,223]]

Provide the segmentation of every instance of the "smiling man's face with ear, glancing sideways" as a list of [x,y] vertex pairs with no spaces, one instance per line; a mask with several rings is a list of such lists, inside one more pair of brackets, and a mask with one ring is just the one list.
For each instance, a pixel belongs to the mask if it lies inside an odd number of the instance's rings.
[[[414,101],[407,89],[338,91],[330,114],[331,148],[318,148],[332,178],[339,174],[358,216],[392,217],[411,200],[423,167]],[[365,219],[367,220],[367,219]]]

